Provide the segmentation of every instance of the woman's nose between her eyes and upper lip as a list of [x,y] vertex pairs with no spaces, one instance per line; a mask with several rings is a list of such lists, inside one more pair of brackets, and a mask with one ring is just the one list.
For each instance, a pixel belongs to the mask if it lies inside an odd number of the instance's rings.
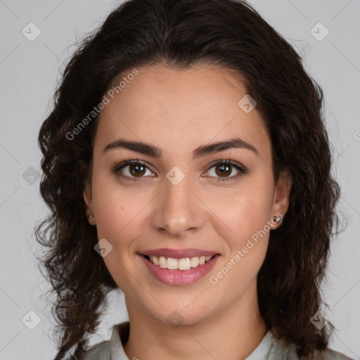
[[155,198],[153,226],[156,230],[184,238],[203,226],[204,205],[188,177],[179,184],[165,179],[164,188]]

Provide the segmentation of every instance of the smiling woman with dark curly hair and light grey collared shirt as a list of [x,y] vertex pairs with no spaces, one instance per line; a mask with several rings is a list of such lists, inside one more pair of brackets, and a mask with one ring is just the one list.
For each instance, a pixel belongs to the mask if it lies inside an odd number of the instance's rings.
[[[349,359],[321,311],[340,195],[322,101],[245,2],[110,13],[39,134],[56,359]],[[89,349],[118,288],[129,321]]]

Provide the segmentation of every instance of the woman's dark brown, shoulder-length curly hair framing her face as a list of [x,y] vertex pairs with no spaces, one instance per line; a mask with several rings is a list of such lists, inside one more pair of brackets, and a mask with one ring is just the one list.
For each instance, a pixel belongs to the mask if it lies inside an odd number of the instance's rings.
[[321,87],[293,47],[246,1],[129,0],[78,44],[39,131],[40,192],[51,212],[35,234],[47,248],[41,265],[56,294],[53,315],[61,339],[55,360],[72,347],[70,359],[81,358],[106,295],[118,288],[94,251],[96,227],[87,221],[83,198],[98,115],[71,140],[69,134],[118,75],[141,65],[186,69],[197,63],[221,65],[243,79],[271,139],[274,179],[282,169],[293,179],[288,212],[270,233],[257,276],[266,327],[298,345],[299,356],[328,347],[333,324],[318,330],[310,322],[324,304],[320,286],[333,226],[339,233],[340,186],[330,174]]

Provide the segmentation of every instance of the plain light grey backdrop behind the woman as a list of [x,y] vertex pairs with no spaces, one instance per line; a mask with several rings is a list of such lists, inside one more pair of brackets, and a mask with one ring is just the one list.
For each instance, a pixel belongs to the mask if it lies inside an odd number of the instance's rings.
[[[0,0],[0,360],[50,360],[56,354],[55,323],[42,296],[49,284],[34,257],[39,253],[34,224],[47,212],[39,195],[37,135],[75,41],[103,23],[120,2]],[[337,328],[330,347],[360,359],[360,1],[250,4],[293,44],[324,91],[333,175],[342,186],[338,210],[348,219],[345,231],[333,238],[323,284],[330,306],[326,314]],[[127,319],[122,293],[111,293],[91,345],[108,340],[113,325]]]

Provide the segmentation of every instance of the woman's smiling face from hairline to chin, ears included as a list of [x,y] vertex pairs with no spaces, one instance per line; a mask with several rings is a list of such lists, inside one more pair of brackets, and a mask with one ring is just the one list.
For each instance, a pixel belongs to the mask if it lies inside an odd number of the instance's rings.
[[[160,321],[197,323],[240,302],[252,306],[269,230],[278,226],[271,219],[285,214],[290,191],[285,173],[274,183],[257,108],[224,68],[137,70],[107,95],[84,191],[105,239],[103,260],[128,310]],[[140,164],[116,167],[127,160]],[[143,256],[150,252],[165,269]]]

